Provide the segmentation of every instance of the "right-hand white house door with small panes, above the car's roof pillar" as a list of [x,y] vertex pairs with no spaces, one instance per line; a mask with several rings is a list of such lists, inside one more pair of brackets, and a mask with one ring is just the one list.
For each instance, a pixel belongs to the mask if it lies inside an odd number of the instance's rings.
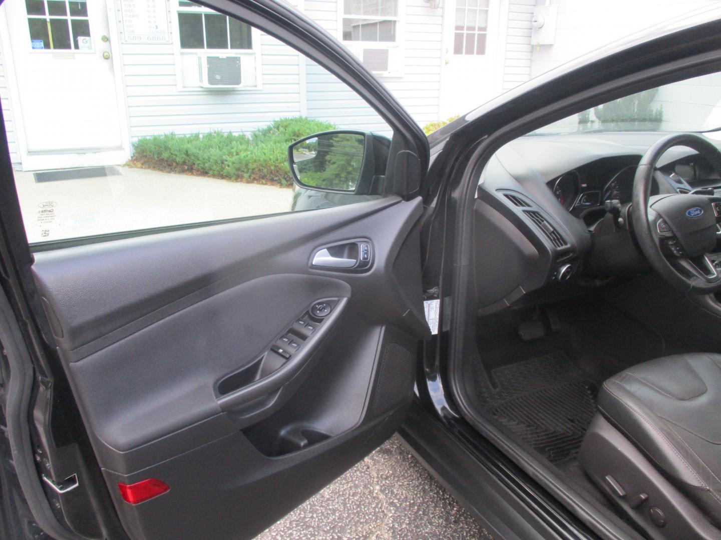
[[441,116],[465,114],[496,96],[498,0],[443,1]]

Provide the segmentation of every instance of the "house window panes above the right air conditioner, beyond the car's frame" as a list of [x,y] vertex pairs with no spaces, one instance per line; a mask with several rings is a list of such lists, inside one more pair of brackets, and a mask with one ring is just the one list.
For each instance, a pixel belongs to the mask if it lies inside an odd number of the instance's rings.
[[344,0],[343,41],[396,42],[398,0]]

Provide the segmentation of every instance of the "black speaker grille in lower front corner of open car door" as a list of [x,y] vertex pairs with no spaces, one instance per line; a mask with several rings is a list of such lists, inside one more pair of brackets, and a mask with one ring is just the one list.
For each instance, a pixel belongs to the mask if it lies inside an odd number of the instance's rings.
[[413,387],[413,361],[410,351],[389,343],[381,360],[381,373],[373,397],[373,415],[400,405]]

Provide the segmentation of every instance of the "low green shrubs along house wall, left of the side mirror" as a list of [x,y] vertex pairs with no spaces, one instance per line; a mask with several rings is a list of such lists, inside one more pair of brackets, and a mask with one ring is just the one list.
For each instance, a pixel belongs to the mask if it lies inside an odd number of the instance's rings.
[[154,135],[133,145],[131,165],[231,181],[288,186],[288,145],[335,125],[305,117],[280,118],[250,135],[213,131]]

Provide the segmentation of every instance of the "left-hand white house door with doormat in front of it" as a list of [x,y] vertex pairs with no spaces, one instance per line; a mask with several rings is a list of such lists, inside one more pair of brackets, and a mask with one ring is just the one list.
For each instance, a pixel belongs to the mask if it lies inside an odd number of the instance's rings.
[[118,103],[105,0],[6,0],[3,8],[12,50],[4,51],[6,76],[19,101],[14,120],[22,123],[23,167],[122,161],[128,153],[121,125],[125,115]]

